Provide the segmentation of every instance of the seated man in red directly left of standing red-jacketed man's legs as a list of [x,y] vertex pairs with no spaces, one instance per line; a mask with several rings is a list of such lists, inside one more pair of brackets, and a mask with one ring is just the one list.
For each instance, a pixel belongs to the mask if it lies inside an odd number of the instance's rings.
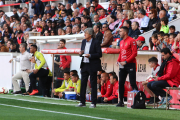
[[117,75],[114,74],[114,75],[110,76],[110,82],[113,85],[113,93],[110,97],[104,97],[104,102],[118,103],[119,83],[118,83]]

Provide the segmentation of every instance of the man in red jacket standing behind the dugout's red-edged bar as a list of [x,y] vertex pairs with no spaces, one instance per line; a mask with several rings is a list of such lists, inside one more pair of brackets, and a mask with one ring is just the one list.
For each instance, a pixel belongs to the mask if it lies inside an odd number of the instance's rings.
[[[67,49],[65,47],[66,40],[61,39],[59,42],[59,48],[60,49]],[[70,71],[70,64],[71,64],[71,56],[68,55],[60,55],[60,61],[54,61],[55,64],[59,65],[58,75],[57,75],[57,81],[55,84],[55,88],[58,88],[62,84],[62,80],[64,80],[64,72]]]

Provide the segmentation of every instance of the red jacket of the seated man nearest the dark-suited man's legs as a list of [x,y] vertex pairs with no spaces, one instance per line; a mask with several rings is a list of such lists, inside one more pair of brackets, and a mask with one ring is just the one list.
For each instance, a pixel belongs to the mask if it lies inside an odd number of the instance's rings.
[[113,91],[113,84],[110,83],[110,80],[108,80],[106,83],[104,83],[103,86],[101,86],[101,97],[109,97],[111,96]]

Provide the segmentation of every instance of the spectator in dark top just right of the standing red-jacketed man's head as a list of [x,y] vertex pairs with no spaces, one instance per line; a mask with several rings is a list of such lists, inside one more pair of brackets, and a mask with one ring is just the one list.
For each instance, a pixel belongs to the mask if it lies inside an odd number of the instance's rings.
[[132,28],[132,34],[130,35],[130,37],[137,38],[141,34],[139,30],[139,23],[133,22],[131,28]]

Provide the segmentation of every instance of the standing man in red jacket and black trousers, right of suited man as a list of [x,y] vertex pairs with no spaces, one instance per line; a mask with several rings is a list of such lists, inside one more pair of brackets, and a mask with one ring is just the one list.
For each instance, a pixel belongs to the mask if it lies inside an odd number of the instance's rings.
[[128,36],[129,29],[127,27],[120,28],[120,36],[123,39],[120,42],[120,53],[117,60],[119,64],[119,97],[120,102],[116,107],[124,107],[124,84],[127,74],[129,74],[129,81],[134,92],[137,92],[136,85],[136,56],[137,44],[136,41]]

